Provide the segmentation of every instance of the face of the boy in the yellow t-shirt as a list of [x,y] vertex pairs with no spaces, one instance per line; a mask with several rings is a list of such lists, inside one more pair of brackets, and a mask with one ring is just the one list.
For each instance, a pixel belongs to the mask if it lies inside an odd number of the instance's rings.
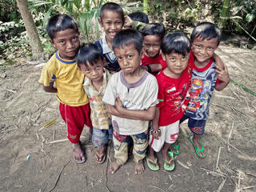
[[50,39],[50,43],[58,49],[61,58],[74,59],[80,46],[79,33],[74,29],[58,31],[55,33],[55,37]]

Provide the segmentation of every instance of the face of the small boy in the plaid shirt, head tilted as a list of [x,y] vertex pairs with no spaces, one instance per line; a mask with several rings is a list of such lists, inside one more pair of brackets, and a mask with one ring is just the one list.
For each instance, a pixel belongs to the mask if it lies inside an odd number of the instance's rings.
[[101,58],[99,58],[93,66],[90,65],[89,62],[86,63],[86,65],[80,65],[80,68],[78,67],[78,70],[85,74],[87,78],[89,78],[92,82],[102,82],[103,80],[103,61]]

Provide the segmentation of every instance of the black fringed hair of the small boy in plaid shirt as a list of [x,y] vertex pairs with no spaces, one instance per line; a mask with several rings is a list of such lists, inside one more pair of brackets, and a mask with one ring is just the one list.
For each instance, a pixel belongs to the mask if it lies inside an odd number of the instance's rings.
[[81,46],[76,55],[76,62],[79,69],[81,65],[87,66],[87,62],[89,62],[91,66],[94,66],[94,63],[97,62],[98,59],[102,59],[103,61],[102,51],[93,43],[86,43]]

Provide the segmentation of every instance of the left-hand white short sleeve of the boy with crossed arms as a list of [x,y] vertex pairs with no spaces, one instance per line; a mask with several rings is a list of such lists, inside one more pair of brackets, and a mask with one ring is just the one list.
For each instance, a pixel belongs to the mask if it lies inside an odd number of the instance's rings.
[[110,78],[110,81],[108,82],[105,90],[105,94],[102,98],[103,102],[106,102],[107,104],[110,104],[111,106],[114,106],[114,102],[117,96],[117,78],[118,74],[113,74]]

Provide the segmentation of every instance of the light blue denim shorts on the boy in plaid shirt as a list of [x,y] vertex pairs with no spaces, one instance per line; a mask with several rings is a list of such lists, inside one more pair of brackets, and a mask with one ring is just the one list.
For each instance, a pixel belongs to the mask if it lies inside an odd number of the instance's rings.
[[109,139],[112,140],[113,137],[113,127],[110,126],[109,130],[98,130],[96,128],[93,128],[93,137],[92,142],[94,146],[104,146]]

